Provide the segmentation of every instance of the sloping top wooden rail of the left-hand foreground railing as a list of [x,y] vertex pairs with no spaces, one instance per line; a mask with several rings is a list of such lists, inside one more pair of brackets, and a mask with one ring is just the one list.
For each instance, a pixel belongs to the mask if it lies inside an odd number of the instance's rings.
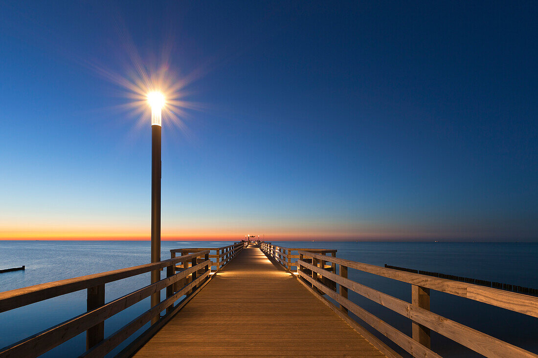
[[[206,250],[207,251],[207,250]],[[28,287],[0,292],[0,312],[16,309],[45,299],[54,298],[67,293],[80,291],[100,284],[122,280],[132,276],[144,274],[155,269],[171,266],[178,262],[191,260],[193,257],[204,255],[207,252],[196,252],[190,255],[178,256],[159,262],[105,271],[102,273],[66,278],[65,280],[40,283]]]

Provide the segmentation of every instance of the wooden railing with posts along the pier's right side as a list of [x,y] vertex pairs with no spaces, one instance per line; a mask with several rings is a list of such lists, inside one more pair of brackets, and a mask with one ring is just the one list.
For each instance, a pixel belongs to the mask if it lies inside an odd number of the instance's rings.
[[[264,250],[272,253],[272,255],[279,255],[280,248],[271,248],[271,245],[267,246],[264,244],[260,244],[260,246],[264,247]],[[334,256],[313,253],[313,250],[310,249],[299,250],[298,253],[299,260],[296,263],[299,265],[298,272],[296,273],[298,280],[308,288],[313,289],[312,291],[318,294],[318,298],[322,299],[325,304],[331,307],[332,310],[352,325],[359,333],[363,333],[367,339],[373,340],[372,343],[374,345],[377,339],[366,331],[365,328],[358,325],[355,320],[351,319],[349,313],[355,314],[359,319],[385,335],[414,357],[440,357],[440,355],[430,349],[430,330],[440,333],[486,357],[538,357],[538,355],[528,352],[525,349],[431,312],[430,289],[502,307],[533,317],[538,317],[537,297],[338,259]],[[326,263],[330,263],[330,266]],[[409,283],[411,285],[412,302],[406,302],[349,280],[348,269],[356,269]],[[327,285],[326,282],[333,282],[334,285],[330,287],[331,285]],[[336,284],[338,285],[338,290],[335,289]],[[373,302],[409,318],[412,321],[412,337],[400,332],[372,313],[351,302],[348,299],[348,290],[357,292],[359,295],[369,298]],[[328,299],[319,295],[320,292],[332,298],[339,306],[337,307]],[[383,348],[381,350],[387,356],[400,356],[380,340],[377,340],[377,343]],[[378,348],[380,348],[379,346]]]

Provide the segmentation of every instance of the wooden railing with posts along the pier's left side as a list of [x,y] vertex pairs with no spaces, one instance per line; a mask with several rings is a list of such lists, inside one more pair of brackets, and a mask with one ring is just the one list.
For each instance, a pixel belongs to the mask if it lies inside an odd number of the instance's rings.
[[[239,243],[225,248],[186,249],[193,253],[160,262],[0,292],[1,313],[67,293],[87,290],[87,312],[0,349],[0,358],[37,357],[84,331],[86,331],[86,352],[81,357],[102,357],[150,320],[156,318],[156,323],[153,323],[117,355],[130,356],[209,282],[211,265],[214,264],[209,259],[211,250],[225,250],[229,253],[226,260],[221,261],[218,267],[221,268],[244,246],[243,243]],[[181,267],[176,267],[177,264]],[[106,283],[164,268],[166,268],[166,278],[105,303]],[[154,293],[160,294],[163,289],[166,289],[164,300],[107,338],[104,337],[106,319]],[[185,297],[181,299],[183,296]],[[175,303],[179,299],[181,300]],[[162,311],[166,311],[166,314],[161,317]]]

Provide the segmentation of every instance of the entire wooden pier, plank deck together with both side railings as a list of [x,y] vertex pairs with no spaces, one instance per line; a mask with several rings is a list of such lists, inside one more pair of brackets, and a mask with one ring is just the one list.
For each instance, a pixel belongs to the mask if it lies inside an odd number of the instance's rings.
[[[105,301],[105,284],[164,269],[166,277],[160,281]],[[408,283],[412,300],[352,281],[349,270]],[[429,292],[536,318],[538,297],[344,260],[330,248],[289,248],[268,242],[174,249],[170,259],[160,262],[0,292],[0,313],[80,290],[87,290],[87,312],[0,349],[0,358],[37,357],[84,332],[86,350],[81,347],[81,357],[103,357],[113,351],[119,357],[397,358],[398,352],[440,357],[431,347],[430,331],[486,357],[538,357],[431,312]],[[408,318],[412,335],[357,305],[349,291]],[[159,292],[158,304],[105,336],[105,320]]]

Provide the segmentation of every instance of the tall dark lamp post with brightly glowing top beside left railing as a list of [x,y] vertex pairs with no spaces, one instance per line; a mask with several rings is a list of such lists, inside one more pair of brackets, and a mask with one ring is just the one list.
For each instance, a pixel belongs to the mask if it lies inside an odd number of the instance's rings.
[[[161,109],[165,97],[161,92],[150,92],[151,106],[151,262],[161,261]],[[160,281],[161,271],[151,271],[151,283]],[[151,306],[161,302],[160,291],[151,295]],[[151,319],[154,324],[159,315]]]

